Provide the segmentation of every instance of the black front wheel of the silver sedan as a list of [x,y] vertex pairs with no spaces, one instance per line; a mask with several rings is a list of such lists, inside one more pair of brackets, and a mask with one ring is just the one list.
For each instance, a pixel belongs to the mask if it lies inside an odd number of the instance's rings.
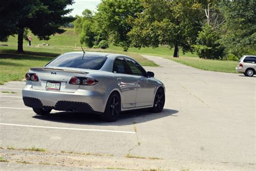
[[163,110],[165,103],[164,89],[159,88],[156,96],[154,97],[154,106],[149,108],[149,112],[159,113]]

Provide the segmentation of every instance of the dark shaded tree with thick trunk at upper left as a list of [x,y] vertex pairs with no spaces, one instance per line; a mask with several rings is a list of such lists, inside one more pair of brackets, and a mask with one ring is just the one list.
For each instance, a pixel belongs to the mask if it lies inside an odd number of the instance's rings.
[[72,9],[66,9],[72,0],[10,0],[0,8],[0,40],[18,34],[18,52],[23,52],[23,37],[27,29],[40,40],[49,40],[55,33],[63,33],[60,26],[75,18],[65,16]]

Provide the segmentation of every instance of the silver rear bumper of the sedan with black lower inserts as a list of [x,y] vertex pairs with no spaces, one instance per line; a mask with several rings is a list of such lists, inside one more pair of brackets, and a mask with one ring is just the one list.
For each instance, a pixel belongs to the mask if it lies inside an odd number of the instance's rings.
[[102,113],[105,111],[104,94],[89,90],[77,90],[75,93],[35,90],[26,85],[22,90],[25,106],[49,107],[58,111],[77,111]]

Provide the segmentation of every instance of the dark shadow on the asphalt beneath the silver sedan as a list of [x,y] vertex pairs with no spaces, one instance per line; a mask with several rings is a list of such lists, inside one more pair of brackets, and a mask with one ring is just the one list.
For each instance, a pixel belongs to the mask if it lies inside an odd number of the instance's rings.
[[49,115],[35,115],[33,118],[41,119],[51,122],[62,122],[66,124],[79,124],[79,125],[100,125],[100,126],[121,126],[132,125],[151,120],[156,120],[164,117],[177,117],[174,115],[179,111],[164,109],[160,113],[150,113],[147,110],[132,110],[120,113],[116,122],[103,122],[100,121],[96,114],[86,114],[77,112],[57,112]]

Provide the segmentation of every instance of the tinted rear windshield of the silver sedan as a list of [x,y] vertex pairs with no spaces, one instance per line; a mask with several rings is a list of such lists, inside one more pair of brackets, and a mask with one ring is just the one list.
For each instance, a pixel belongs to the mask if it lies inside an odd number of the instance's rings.
[[68,53],[62,54],[45,66],[74,67],[78,69],[99,70],[107,57],[95,54]]

